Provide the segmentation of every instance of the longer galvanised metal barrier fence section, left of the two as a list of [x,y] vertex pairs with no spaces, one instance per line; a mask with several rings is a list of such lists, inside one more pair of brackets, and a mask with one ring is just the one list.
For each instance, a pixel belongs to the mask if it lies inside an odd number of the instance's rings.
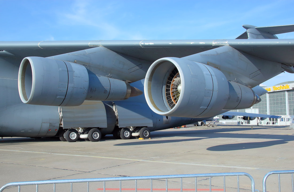
[[[183,178],[191,178],[193,179],[193,187],[195,186],[195,191],[200,191],[200,189],[198,189],[198,185],[197,184],[197,179],[199,177],[206,177],[207,179],[209,178],[209,191],[226,191],[226,185],[225,185],[225,178],[226,176],[237,176],[237,187],[233,188],[233,190],[235,191],[235,189],[237,189],[237,191],[240,191],[240,184],[239,184],[239,176],[247,176],[250,181],[251,181],[251,189],[247,189],[251,190],[252,192],[255,192],[255,183],[254,183],[254,179],[251,175],[249,175],[248,173],[244,173],[244,172],[235,172],[235,173],[211,173],[211,174],[184,174],[184,175],[159,175],[159,176],[136,176],[136,177],[112,177],[112,178],[96,178],[96,179],[66,179],[66,180],[46,180],[46,181],[23,181],[23,182],[13,182],[13,183],[9,183],[4,185],[3,187],[0,188],[0,192],[2,192],[4,189],[7,189],[9,187],[13,187],[13,186],[18,186],[18,191],[20,191],[21,186],[28,186],[28,185],[36,185],[36,191],[39,191],[39,185],[43,185],[43,184],[53,184],[52,186],[52,191],[56,191],[56,184],[70,184],[70,186],[68,186],[68,188],[70,189],[70,191],[73,191],[73,183],[87,183],[87,191],[90,191],[90,182],[103,182],[103,188],[96,188],[96,190],[103,190],[104,192],[107,190],[112,190],[112,191],[122,191],[122,190],[128,190],[128,191],[164,191],[163,189],[155,189],[153,187],[153,181],[156,180],[160,180],[163,179],[163,181],[165,180],[165,190],[166,192],[169,191],[187,191],[187,189],[183,189]],[[218,189],[212,189],[212,177],[223,177],[223,179],[221,178],[221,183],[223,183],[223,186],[219,187]],[[195,178],[195,180],[194,180]],[[168,179],[180,179],[180,188],[175,189],[175,188],[168,188]],[[138,184],[137,181],[138,180],[150,180],[150,188],[138,188]],[[202,179],[202,181],[205,179]],[[106,188],[106,182],[107,181],[119,181],[119,188]],[[122,188],[122,181],[134,181],[133,184],[135,184],[135,188]],[[215,178],[213,179],[213,181],[215,181]],[[198,181],[199,182],[199,181]],[[176,184],[178,184],[178,182],[176,182]],[[220,183],[218,183],[218,185],[220,185]],[[113,184],[111,185],[113,187]],[[173,185],[174,186],[174,185]],[[216,187],[216,186],[214,186]],[[189,189],[188,191],[191,191],[192,189]],[[46,190],[47,191],[47,190]],[[66,190],[69,191],[69,190]],[[79,191],[81,191],[79,189]],[[194,189],[193,189],[194,191]],[[203,189],[201,189],[201,191],[203,191]],[[205,190],[206,191],[206,190]],[[208,189],[207,189],[208,191]],[[258,191],[258,190],[257,190]]]

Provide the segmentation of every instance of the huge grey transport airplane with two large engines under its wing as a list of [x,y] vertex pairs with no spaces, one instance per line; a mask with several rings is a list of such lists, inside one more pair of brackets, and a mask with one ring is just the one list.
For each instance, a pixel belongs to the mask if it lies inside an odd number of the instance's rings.
[[[294,73],[294,25],[243,25],[233,40],[0,42],[0,137],[99,141],[240,115],[260,83]],[[280,118],[244,114],[251,120]]]

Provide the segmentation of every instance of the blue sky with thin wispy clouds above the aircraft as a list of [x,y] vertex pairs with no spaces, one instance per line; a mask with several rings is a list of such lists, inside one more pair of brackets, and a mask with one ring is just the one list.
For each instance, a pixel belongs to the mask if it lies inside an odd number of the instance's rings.
[[[294,24],[294,1],[0,0],[0,41],[235,39]],[[294,39],[294,32],[277,35]],[[282,73],[263,85],[294,80]]]

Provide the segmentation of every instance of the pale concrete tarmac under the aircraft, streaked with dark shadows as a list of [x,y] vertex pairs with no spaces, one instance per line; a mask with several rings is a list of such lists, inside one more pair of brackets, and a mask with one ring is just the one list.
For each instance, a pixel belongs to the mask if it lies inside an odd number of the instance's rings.
[[[107,135],[99,142],[3,138],[0,187],[16,181],[246,172],[253,176],[255,188],[262,191],[267,172],[294,170],[293,146],[294,130],[289,126],[187,126],[151,132],[151,139],[114,140]],[[244,177],[240,177],[240,187],[248,191],[250,180]],[[150,188],[150,181],[140,182],[139,188]],[[199,179],[198,187],[209,189],[207,182]],[[236,191],[236,182],[236,178],[228,178],[226,191]],[[186,189],[195,188],[195,179],[194,184],[191,180],[184,184]],[[223,178],[213,178],[212,184],[222,188]],[[113,185],[119,188],[119,184]],[[135,184],[128,185],[134,188]],[[176,180],[169,186],[180,187]],[[267,191],[278,191],[277,187],[277,176],[270,176]],[[292,191],[291,175],[281,175],[281,187],[282,191]],[[98,188],[95,186],[95,190]],[[165,188],[165,184],[157,188]]]

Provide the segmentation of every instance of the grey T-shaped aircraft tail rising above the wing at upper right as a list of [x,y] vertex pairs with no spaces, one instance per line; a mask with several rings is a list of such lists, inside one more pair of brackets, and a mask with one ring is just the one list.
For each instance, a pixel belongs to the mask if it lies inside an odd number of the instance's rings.
[[294,25],[279,25],[268,27],[256,27],[253,25],[242,25],[246,29],[236,39],[278,39],[276,34],[294,32]]

